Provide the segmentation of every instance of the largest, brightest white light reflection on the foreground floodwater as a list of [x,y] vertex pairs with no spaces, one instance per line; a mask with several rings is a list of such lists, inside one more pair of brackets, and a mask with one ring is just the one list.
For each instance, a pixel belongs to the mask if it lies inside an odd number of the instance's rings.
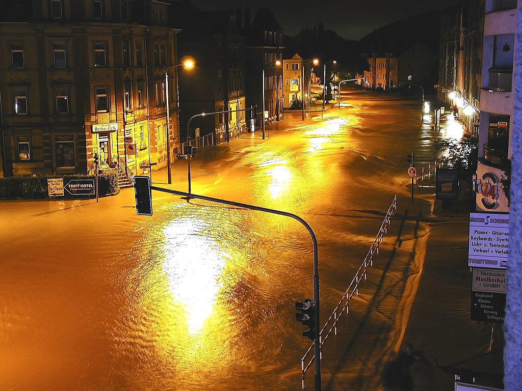
[[163,229],[167,241],[163,270],[173,299],[183,306],[191,334],[199,333],[212,314],[222,270],[230,258],[204,235],[208,225],[201,219],[183,218]]

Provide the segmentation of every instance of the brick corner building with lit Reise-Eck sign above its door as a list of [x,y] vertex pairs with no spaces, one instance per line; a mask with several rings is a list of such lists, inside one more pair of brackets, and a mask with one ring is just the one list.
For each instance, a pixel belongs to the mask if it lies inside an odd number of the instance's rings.
[[0,23],[4,176],[86,173],[94,154],[128,176],[165,164],[167,140],[179,147],[176,105],[166,134],[164,74],[179,32],[167,27],[168,9],[34,0]]

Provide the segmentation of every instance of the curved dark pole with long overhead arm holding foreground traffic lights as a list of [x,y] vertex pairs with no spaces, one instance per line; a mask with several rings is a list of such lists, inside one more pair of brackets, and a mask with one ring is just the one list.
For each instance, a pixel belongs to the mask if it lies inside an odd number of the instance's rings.
[[[314,390],[321,391],[321,346],[320,346],[321,328],[319,328],[319,326],[320,326],[320,322],[319,322],[319,268],[318,268],[318,256],[317,256],[317,239],[315,237],[314,231],[312,230],[312,227],[310,227],[310,225],[308,223],[306,223],[298,215],[295,215],[295,214],[289,213],[289,212],[278,211],[275,209],[268,209],[268,208],[262,207],[262,206],[243,204],[241,202],[234,202],[234,201],[228,201],[228,200],[220,200],[218,198],[199,196],[198,194],[192,194],[190,192],[185,193],[183,191],[164,189],[164,188],[157,187],[157,186],[151,186],[150,189],[162,191],[164,193],[176,194],[177,196],[183,196],[186,198],[197,198],[197,199],[205,200],[205,201],[209,201],[209,202],[217,202],[217,203],[225,204],[225,205],[243,207],[244,209],[250,209],[250,210],[265,212],[265,213],[278,214],[281,216],[287,216],[287,217],[291,217],[291,218],[297,220],[298,222],[300,222],[302,225],[304,225],[306,227],[306,229],[310,233],[310,236],[312,237],[312,243],[313,243],[313,247],[314,247],[313,290],[314,290],[315,330],[316,330],[315,339],[314,339],[314,369],[315,369],[315,371],[314,371]],[[150,212],[152,214],[152,207],[150,209]]]

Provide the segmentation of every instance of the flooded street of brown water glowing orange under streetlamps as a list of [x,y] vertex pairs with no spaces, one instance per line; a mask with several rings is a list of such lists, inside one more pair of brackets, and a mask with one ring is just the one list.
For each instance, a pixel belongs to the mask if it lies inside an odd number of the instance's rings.
[[[438,140],[462,135],[422,121],[418,101],[351,92],[343,103],[192,161],[193,193],[310,224],[322,324],[395,194],[408,200],[406,155],[427,166]],[[172,185],[161,180],[152,173],[155,186],[186,191],[186,163]],[[152,202],[151,217],[136,215],[132,188],[99,203],[0,202],[1,390],[301,389],[310,341],[294,302],[312,298],[307,230],[158,191]]]

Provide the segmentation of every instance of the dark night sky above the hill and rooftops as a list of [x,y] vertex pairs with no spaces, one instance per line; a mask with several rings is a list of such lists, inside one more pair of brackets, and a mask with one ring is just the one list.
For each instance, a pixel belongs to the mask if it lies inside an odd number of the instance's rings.
[[202,10],[224,10],[250,5],[252,20],[259,7],[270,8],[285,35],[294,36],[303,27],[323,22],[345,39],[359,40],[377,27],[455,5],[455,0],[192,0]]

